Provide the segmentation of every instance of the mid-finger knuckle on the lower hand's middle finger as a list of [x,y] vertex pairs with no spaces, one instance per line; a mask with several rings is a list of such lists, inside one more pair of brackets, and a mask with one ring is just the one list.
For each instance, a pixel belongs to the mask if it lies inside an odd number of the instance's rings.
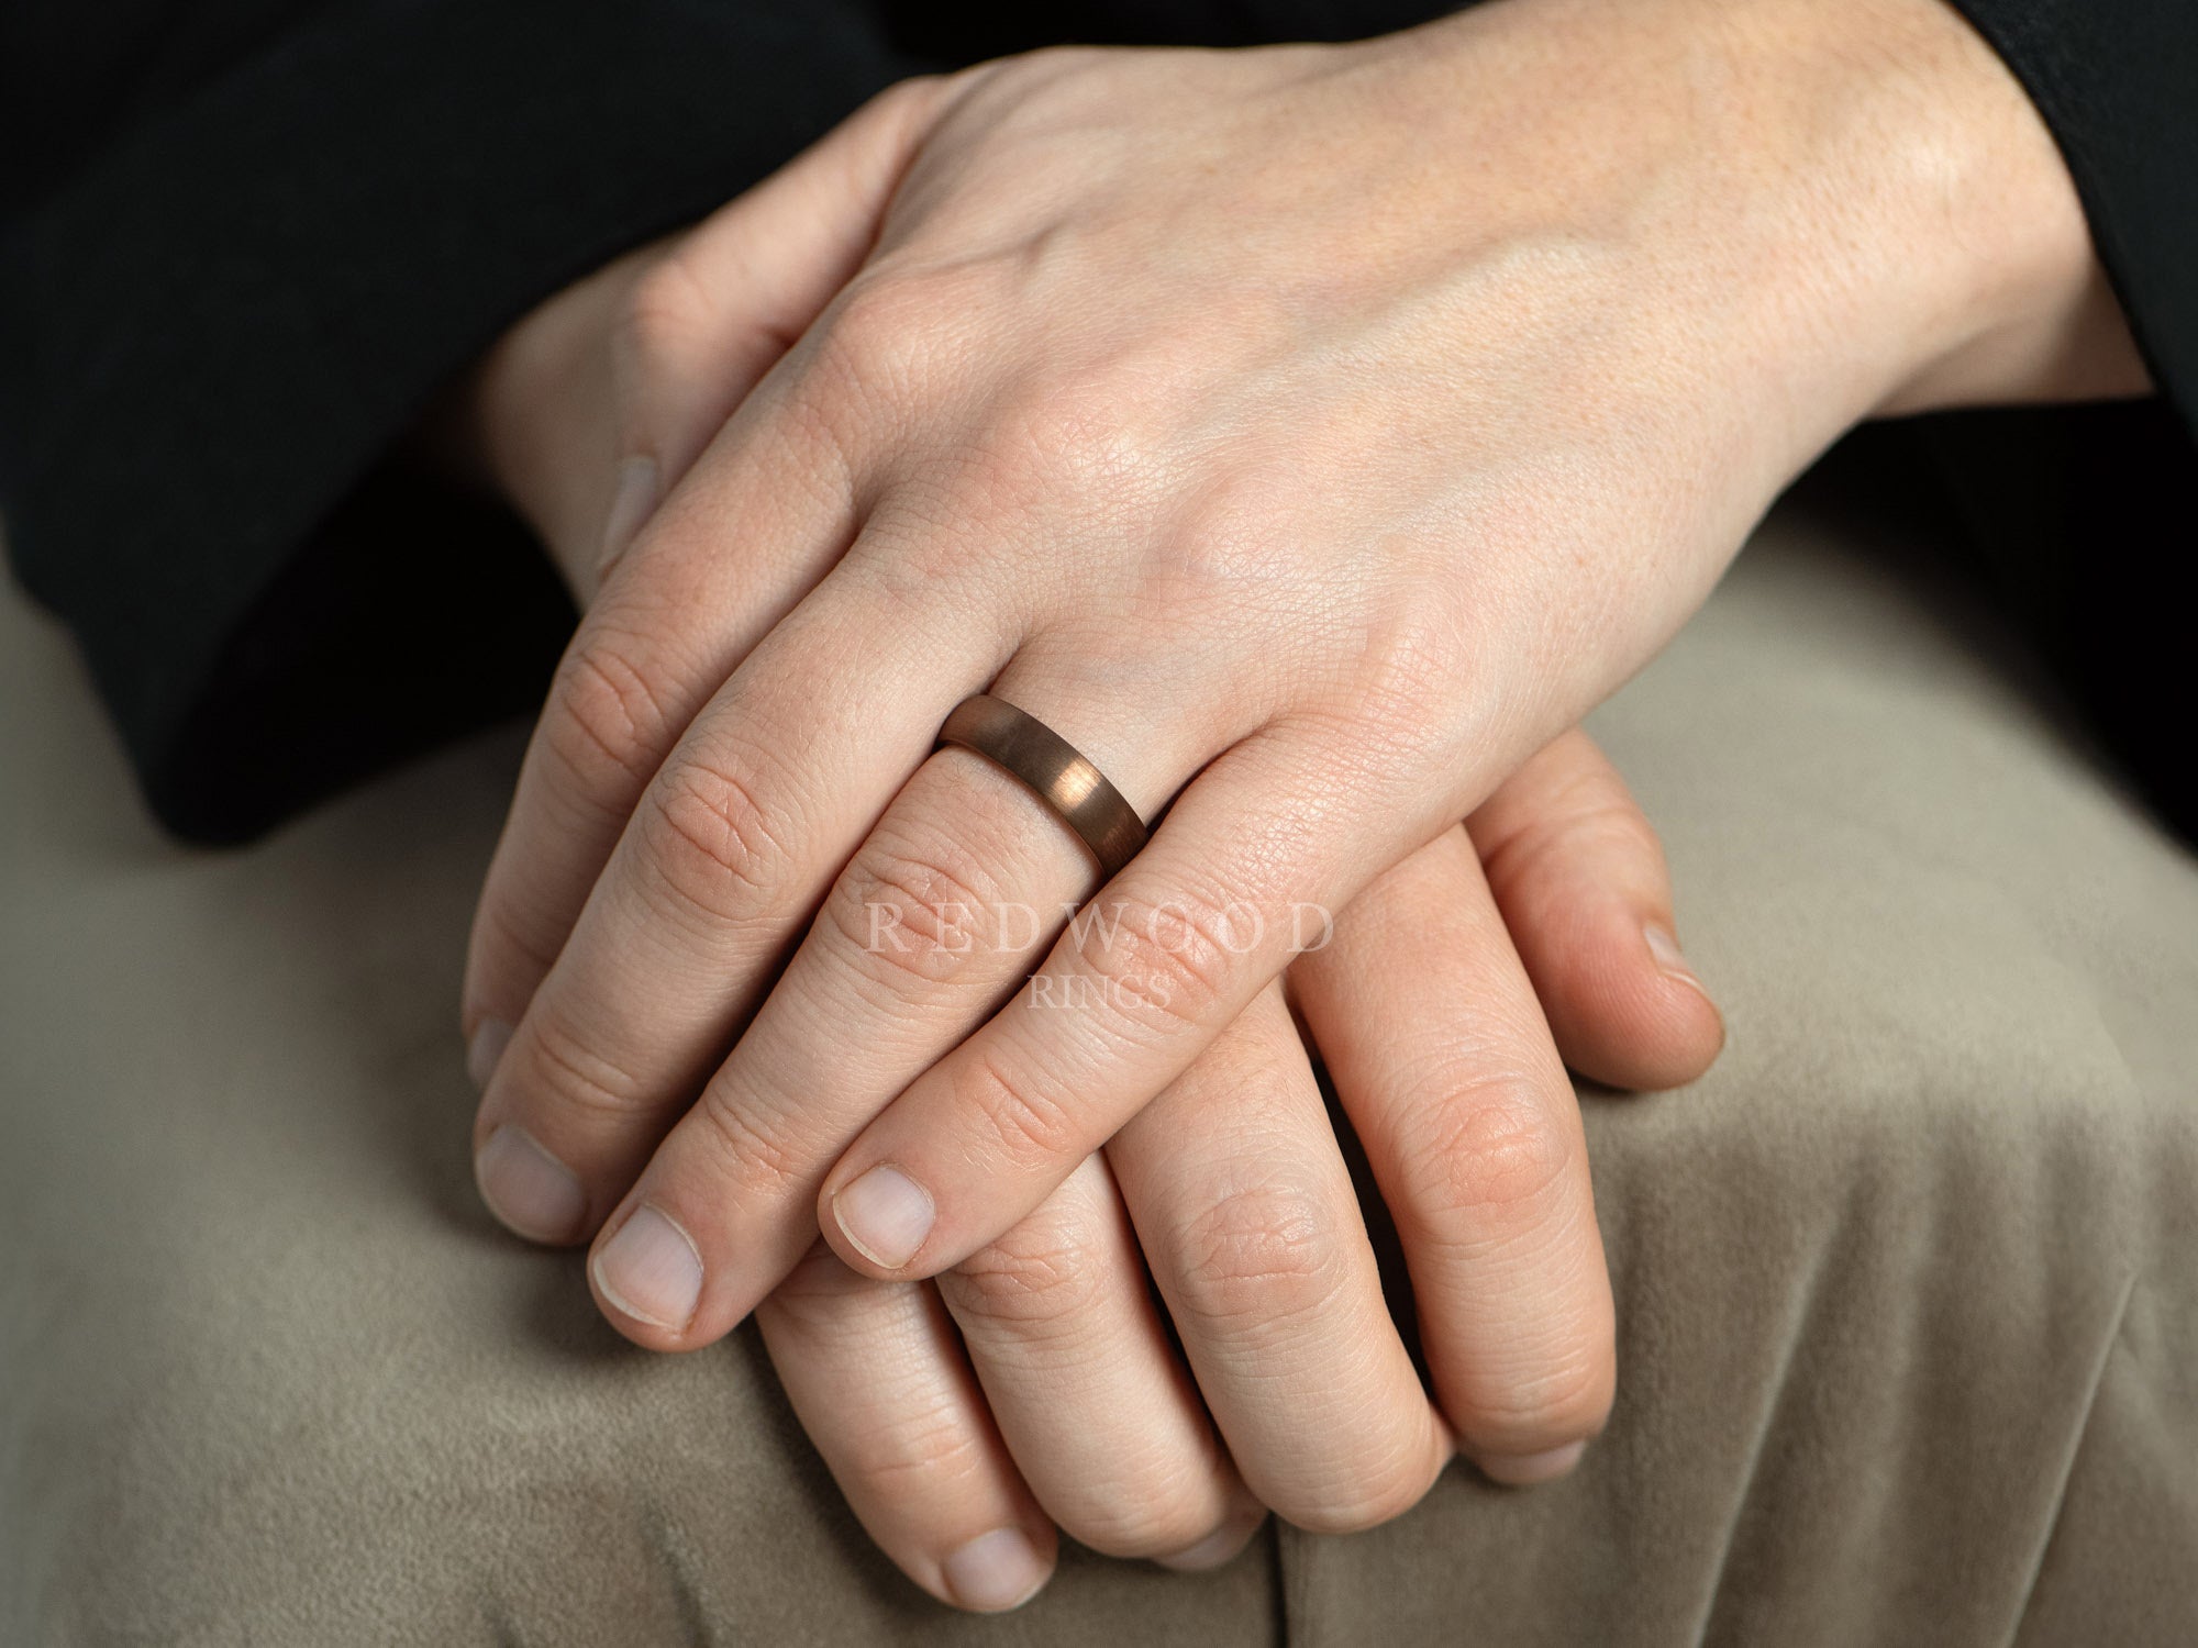
[[1328,1200],[1290,1178],[1226,1191],[1187,1220],[1169,1248],[1183,1307],[1231,1334],[1290,1332],[1343,1285]]

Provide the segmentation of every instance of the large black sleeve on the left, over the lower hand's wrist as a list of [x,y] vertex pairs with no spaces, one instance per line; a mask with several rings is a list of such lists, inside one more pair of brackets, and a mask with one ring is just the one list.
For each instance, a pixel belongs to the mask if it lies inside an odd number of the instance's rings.
[[536,703],[571,611],[387,461],[512,319],[908,73],[862,0],[0,22],[0,512],[171,831]]

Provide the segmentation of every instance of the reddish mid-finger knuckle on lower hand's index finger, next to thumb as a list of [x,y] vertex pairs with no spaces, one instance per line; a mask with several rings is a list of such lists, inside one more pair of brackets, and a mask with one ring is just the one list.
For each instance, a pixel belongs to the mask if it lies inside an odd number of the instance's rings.
[[1418,1132],[1405,1151],[1411,1202],[1444,1222],[1539,1215],[1578,1158],[1572,1129],[1525,1074],[1473,1074],[1427,1107]]

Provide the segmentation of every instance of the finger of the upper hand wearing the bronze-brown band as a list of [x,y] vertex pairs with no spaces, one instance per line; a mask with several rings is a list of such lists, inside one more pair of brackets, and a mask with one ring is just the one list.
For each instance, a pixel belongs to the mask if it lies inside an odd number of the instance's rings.
[[[1132,802],[1165,795],[1207,754],[1191,743],[1198,721],[1136,738],[1128,721],[1108,725],[1092,712],[1121,694],[1042,666],[1018,659],[996,688],[1110,762]],[[890,694],[906,701],[908,688]],[[708,1343],[754,1310],[815,1235],[831,1165],[1015,991],[1090,883],[1086,848],[1022,784],[965,749],[934,754],[846,861],[754,1022],[604,1222],[589,1270],[620,1332],[675,1349]],[[582,925],[593,914],[589,905]],[[600,954],[615,960],[620,949]],[[589,976],[576,1011],[611,1002],[620,1020],[593,1035],[631,1035],[664,1011],[662,956],[657,940],[651,971]],[[681,969],[721,980],[739,965],[721,947]],[[576,971],[558,969],[554,982]],[[629,1132],[640,1138],[644,1127]],[[662,1263],[666,1255],[679,1263]]]

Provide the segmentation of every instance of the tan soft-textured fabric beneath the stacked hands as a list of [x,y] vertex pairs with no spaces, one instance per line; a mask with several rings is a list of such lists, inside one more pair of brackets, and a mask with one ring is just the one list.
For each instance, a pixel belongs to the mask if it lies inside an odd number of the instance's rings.
[[752,1336],[629,1349],[475,1206],[517,736],[182,853],[0,602],[0,1641],[2198,1641],[2198,868],[1857,532],[1776,521],[1598,719],[1732,1044],[1587,1101],[1580,1474],[996,1622],[868,1551]]

